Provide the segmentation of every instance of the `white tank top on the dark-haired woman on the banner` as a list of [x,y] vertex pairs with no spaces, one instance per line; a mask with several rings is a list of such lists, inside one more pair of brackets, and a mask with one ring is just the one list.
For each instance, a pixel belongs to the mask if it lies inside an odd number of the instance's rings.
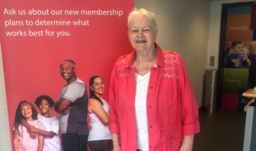
[[[103,108],[106,113],[109,112],[109,104],[102,99]],[[109,131],[109,124],[103,123],[95,113],[89,113],[91,131],[88,135],[88,141],[95,140],[111,140],[111,132]]]

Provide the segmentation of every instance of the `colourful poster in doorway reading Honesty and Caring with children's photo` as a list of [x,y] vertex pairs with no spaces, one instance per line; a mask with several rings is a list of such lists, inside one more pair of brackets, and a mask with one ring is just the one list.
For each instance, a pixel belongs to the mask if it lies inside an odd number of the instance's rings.
[[251,6],[228,8],[222,109],[243,111],[246,104],[241,95],[251,85],[248,56],[250,43],[256,36],[255,30],[250,29],[251,10]]

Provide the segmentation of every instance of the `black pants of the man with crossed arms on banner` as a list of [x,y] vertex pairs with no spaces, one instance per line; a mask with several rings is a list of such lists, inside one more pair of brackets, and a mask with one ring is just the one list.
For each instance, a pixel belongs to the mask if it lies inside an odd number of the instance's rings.
[[63,151],[87,151],[88,135],[76,133],[62,133],[61,141]]

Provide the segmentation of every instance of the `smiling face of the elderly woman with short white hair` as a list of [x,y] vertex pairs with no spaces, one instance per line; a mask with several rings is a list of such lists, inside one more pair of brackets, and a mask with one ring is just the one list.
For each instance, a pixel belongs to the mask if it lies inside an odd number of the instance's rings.
[[148,19],[136,20],[128,31],[129,41],[136,51],[147,51],[154,48],[157,40],[157,31],[152,27]]

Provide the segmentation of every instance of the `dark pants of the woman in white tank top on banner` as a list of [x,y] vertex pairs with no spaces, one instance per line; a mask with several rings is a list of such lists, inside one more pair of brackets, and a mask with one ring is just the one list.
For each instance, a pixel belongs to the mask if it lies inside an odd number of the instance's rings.
[[111,140],[88,141],[91,151],[111,151]]

